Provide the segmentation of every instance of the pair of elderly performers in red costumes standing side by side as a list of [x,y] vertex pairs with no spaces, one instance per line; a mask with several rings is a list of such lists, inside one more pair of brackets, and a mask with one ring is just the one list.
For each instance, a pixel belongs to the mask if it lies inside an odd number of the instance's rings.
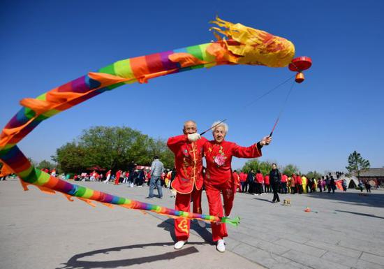
[[[176,177],[172,188],[177,191],[175,210],[190,211],[193,201],[193,212],[201,214],[202,186],[207,194],[209,215],[228,217],[232,210],[237,182],[232,176],[232,157],[256,158],[261,156],[261,148],[269,145],[272,138],[264,137],[250,147],[241,147],[225,140],[228,125],[223,122],[212,124],[214,140],[207,140],[197,133],[197,124],[189,120],[184,122],[183,135],[168,139],[168,147],[175,154]],[[203,168],[205,157],[207,167]],[[223,203],[221,196],[223,195]],[[223,210],[224,208],[224,210]],[[200,226],[202,222],[199,222]],[[219,252],[226,251],[223,238],[228,236],[226,224],[212,223],[212,240],[216,242]],[[181,249],[189,238],[189,219],[175,219],[175,249]]]

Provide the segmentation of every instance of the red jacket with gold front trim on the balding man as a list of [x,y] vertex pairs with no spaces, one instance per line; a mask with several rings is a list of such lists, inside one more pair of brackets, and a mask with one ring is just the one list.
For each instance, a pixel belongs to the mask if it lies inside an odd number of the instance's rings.
[[189,194],[202,188],[202,150],[207,141],[201,138],[190,142],[186,135],[168,138],[167,145],[175,154],[176,176],[172,188],[180,194]]

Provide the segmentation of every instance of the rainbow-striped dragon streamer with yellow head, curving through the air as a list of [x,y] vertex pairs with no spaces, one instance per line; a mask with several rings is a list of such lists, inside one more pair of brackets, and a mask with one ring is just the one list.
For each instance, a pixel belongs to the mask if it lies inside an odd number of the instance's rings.
[[[212,43],[117,61],[110,66],[90,72],[41,94],[36,99],[22,99],[20,101],[22,109],[10,119],[0,134],[1,161],[20,177],[24,188],[26,188],[26,184],[35,184],[43,191],[59,191],[89,203],[93,200],[126,208],[150,210],[172,217],[198,218],[237,225],[238,219],[179,212],[104,194],[59,180],[34,168],[17,147],[17,143],[43,120],[121,85],[133,82],[145,83],[149,79],[162,75],[223,64],[283,67],[293,59],[295,48],[290,41],[284,38],[244,27],[242,24],[231,24],[219,18],[213,23],[223,27],[223,29],[213,28],[216,32],[230,39],[219,38],[218,41]],[[217,36],[217,34],[215,35]]]

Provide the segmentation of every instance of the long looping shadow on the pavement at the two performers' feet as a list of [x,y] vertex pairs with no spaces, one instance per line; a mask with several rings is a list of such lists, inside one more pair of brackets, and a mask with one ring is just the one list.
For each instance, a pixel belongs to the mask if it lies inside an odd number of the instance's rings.
[[[192,245],[205,245],[205,242],[191,242]],[[181,250],[173,250],[171,252],[165,252],[163,254],[157,254],[152,256],[144,256],[132,259],[124,260],[115,260],[115,261],[83,261],[83,258],[94,256],[97,254],[109,254],[110,252],[120,252],[124,249],[139,249],[145,247],[163,247],[163,246],[172,246],[173,242],[158,242],[151,244],[140,244],[140,245],[130,245],[123,247],[112,247],[109,249],[98,249],[91,252],[84,252],[81,254],[76,254],[66,263],[62,263],[62,267],[56,269],[91,269],[91,268],[118,268],[120,266],[135,266],[142,263],[152,263],[154,261],[160,260],[171,260],[177,259],[180,256],[186,256],[198,252],[198,249],[195,247],[184,247]],[[169,248],[166,248],[169,249]],[[82,259],[82,261],[80,261]]]

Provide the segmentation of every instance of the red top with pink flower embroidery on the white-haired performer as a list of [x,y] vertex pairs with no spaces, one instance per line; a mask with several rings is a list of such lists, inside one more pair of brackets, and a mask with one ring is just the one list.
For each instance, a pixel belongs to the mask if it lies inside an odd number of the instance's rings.
[[261,156],[256,144],[251,147],[241,147],[235,143],[223,141],[216,143],[207,141],[204,145],[204,154],[207,161],[205,184],[232,183],[232,157],[256,158]]

